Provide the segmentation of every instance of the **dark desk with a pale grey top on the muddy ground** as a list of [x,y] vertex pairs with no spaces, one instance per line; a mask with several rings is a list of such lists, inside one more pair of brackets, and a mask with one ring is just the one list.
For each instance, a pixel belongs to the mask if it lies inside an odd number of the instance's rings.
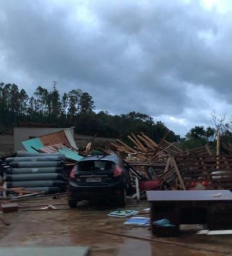
[[[207,224],[210,230],[232,229],[232,192],[230,190],[147,191],[151,204],[152,233],[176,236],[180,224]],[[153,225],[168,219],[174,227]]]

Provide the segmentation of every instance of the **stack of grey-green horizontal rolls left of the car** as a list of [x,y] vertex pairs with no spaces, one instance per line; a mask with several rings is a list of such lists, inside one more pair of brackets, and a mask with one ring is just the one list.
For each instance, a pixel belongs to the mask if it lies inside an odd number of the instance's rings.
[[65,155],[60,153],[28,153],[18,151],[16,157],[6,158],[6,185],[44,191],[46,194],[63,192],[67,186],[64,175]]

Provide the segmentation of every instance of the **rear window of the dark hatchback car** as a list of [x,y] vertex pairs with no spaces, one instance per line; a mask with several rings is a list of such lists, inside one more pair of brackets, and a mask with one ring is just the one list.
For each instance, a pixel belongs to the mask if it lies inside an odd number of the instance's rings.
[[111,161],[83,161],[78,163],[78,171],[97,171],[97,170],[110,170],[115,165]]

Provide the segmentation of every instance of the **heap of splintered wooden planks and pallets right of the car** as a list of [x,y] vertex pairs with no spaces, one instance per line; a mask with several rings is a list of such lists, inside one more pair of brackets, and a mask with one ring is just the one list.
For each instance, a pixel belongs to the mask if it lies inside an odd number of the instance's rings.
[[183,151],[167,136],[156,143],[143,133],[131,134],[132,146],[117,140],[111,143],[115,150],[105,153],[120,155],[140,181],[161,180],[168,189],[232,189],[232,154],[213,154],[208,144]]

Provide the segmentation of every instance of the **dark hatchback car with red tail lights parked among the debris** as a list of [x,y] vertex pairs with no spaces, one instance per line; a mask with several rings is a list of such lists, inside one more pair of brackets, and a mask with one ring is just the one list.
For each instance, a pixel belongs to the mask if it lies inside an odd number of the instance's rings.
[[127,184],[128,171],[116,155],[84,157],[70,174],[69,206],[76,207],[82,200],[108,199],[123,207]]

